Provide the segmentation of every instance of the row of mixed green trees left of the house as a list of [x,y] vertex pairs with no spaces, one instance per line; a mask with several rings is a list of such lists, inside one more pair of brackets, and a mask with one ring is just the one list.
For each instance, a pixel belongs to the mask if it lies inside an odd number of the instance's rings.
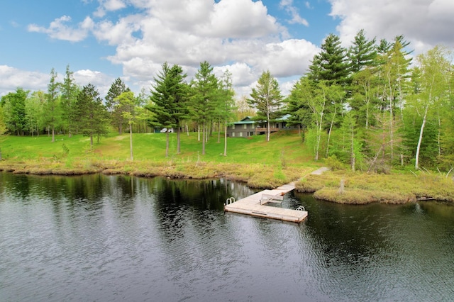
[[[224,133],[227,122],[235,115],[235,100],[231,73],[215,76],[209,62],[201,62],[194,79],[187,82],[179,65],[165,62],[154,78],[150,94],[145,89],[135,96],[121,78],[110,86],[104,99],[92,84],[79,86],[67,66],[62,82],[57,82],[55,69],[50,72],[47,91],[16,91],[1,97],[0,134],[43,135],[55,141],[55,134],[82,134],[94,139],[107,135],[114,128],[122,134],[145,133],[155,128],[167,129],[166,156],[169,153],[169,130],[177,132],[177,153],[180,134],[189,129],[199,132],[202,155],[205,142],[217,127]],[[200,138],[201,135],[201,138]],[[219,134],[218,134],[219,135]],[[220,137],[218,137],[220,140]],[[225,140],[226,143],[226,140]],[[133,159],[131,138],[131,159]],[[226,155],[226,147],[224,154]]]

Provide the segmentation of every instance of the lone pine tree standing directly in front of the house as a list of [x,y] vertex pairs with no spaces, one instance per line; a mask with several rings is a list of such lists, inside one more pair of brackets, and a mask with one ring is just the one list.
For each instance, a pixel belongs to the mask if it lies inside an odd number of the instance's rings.
[[277,118],[281,102],[282,94],[277,79],[272,77],[269,70],[262,72],[257,86],[252,89],[248,103],[257,109],[255,118],[267,123],[267,141],[270,141],[270,122]]

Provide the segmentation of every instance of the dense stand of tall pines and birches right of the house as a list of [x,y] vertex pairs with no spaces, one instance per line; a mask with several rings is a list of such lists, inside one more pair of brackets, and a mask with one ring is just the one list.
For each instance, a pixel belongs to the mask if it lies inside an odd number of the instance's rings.
[[331,34],[294,84],[287,112],[306,126],[315,160],[330,158],[353,171],[409,164],[450,171],[452,59],[441,46],[413,58],[402,35],[377,43],[360,30],[346,49]]

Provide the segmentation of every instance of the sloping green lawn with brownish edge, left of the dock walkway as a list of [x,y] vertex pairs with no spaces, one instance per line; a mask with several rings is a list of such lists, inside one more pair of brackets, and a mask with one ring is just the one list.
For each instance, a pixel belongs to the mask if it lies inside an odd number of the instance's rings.
[[177,136],[170,133],[170,156],[165,157],[166,134],[133,135],[134,160],[130,159],[129,135],[109,135],[92,150],[82,135],[67,138],[57,135],[55,142],[39,138],[7,136],[0,142],[3,160],[0,169],[26,174],[131,174],[140,177],[206,179],[226,177],[255,188],[275,188],[294,181],[320,164],[297,133],[276,133],[270,142],[265,137],[228,138],[223,156],[223,138],[213,135],[201,155],[196,133],[181,136],[181,153],[176,154]]

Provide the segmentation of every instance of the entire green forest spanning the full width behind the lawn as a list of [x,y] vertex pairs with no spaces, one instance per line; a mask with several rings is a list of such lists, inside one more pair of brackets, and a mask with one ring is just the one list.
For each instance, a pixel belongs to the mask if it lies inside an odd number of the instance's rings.
[[166,62],[149,91],[136,95],[118,78],[104,99],[94,85],[79,86],[69,66],[62,82],[52,69],[47,91],[18,87],[1,97],[0,135],[49,135],[53,142],[56,134],[82,134],[93,145],[113,129],[132,135],[173,128],[177,154],[179,135],[191,130],[199,133],[204,155],[204,143],[215,131],[225,134],[228,123],[253,116],[269,125],[290,114],[288,123],[299,128],[315,161],[352,171],[411,167],[449,174],[453,88],[453,57],[446,47],[414,56],[402,35],[377,41],[360,30],[348,48],[328,35],[288,96],[267,70],[249,97],[236,99],[231,73],[216,77],[209,62],[201,62],[190,80],[182,67]]

